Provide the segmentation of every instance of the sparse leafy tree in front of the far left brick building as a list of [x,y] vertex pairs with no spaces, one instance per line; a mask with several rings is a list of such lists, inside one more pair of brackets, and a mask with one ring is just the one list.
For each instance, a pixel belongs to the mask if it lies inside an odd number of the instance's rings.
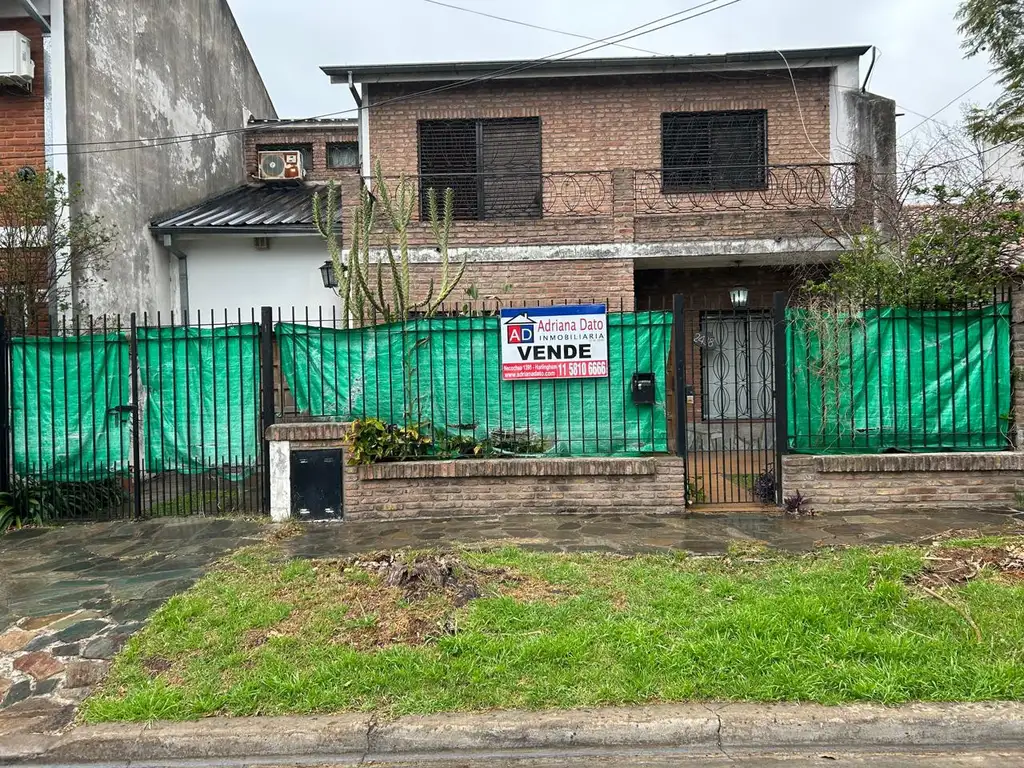
[[114,230],[73,212],[81,196],[52,169],[0,174],[0,312],[15,333],[76,310],[72,279],[80,288],[102,280]]

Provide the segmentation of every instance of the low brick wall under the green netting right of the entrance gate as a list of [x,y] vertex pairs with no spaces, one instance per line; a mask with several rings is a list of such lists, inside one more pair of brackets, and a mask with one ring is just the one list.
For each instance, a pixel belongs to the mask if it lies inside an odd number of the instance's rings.
[[1024,454],[784,456],[782,487],[818,512],[1006,509],[1024,489]]

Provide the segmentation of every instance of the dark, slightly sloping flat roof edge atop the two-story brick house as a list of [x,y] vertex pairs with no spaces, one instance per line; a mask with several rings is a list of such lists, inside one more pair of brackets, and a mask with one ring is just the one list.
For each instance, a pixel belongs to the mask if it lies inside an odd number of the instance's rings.
[[652,75],[715,70],[776,70],[790,67],[835,66],[860,58],[869,45],[839,48],[798,48],[698,56],[611,56],[604,58],[510,59],[506,61],[441,61],[423,63],[322,67],[332,83],[424,83],[486,77],[488,80]]

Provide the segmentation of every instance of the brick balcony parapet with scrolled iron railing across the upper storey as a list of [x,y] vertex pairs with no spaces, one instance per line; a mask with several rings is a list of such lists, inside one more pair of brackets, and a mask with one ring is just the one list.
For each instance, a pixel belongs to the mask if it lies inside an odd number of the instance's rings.
[[[407,176],[410,242],[427,244],[426,194],[455,190],[457,246],[657,243],[820,234],[863,218],[854,163]],[[394,189],[398,177],[387,179]],[[866,198],[865,198],[866,199]],[[868,199],[869,200],[869,199]],[[866,219],[865,219],[866,220]]]

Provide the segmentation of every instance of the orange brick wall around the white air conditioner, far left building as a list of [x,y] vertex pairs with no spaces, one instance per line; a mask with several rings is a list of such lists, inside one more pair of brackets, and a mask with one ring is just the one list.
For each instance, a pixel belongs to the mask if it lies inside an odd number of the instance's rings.
[[32,93],[0,89],[0,173],[26,166],[42,170],[45,136],[43,34],[31,19],[0,18],[0,30],[20,32],[32,41],[36,74]]

